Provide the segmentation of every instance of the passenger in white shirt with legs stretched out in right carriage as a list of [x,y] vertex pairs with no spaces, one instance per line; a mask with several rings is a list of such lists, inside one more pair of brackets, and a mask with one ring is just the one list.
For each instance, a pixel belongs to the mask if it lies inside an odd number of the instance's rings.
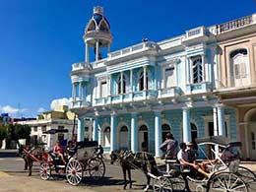
[[188,153],[186,151],[187,145],[185,143],[180,143],[179,147],[180,147],[180,151],[178,152],[177,160],[179,160],[181,165],[192,167],[192,168],[196,169],[197,171],[201,172],[202,174],[204,174],[206,177],[208,177],[208,178],[211,177],[211,175],[212,175],[211,173],[206,172],[199,165],[197,165],[193,162],[189,162]]

